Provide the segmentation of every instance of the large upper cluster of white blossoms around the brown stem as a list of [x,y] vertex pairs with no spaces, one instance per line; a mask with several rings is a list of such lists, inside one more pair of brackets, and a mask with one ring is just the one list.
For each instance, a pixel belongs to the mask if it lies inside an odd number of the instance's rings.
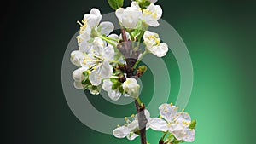
[[[147,26],[159,26],[162,9],[154,3],[155,1],[142,8],[138,2],[133,1],[130,7],[116,10],[115,14],[126,30],[125,37],[130,41],[131,37],[143,37],[145,49],[131,48],[136,49],[133,53],[138,53],[133,58],[139,59],[147,52],[162,57],[168,51],[167,44],[160,43],[157,33],[145,30]],[[117,50],[118,45],[124,41],[123,35],[111,33],[113,23],[101,20],[100,10],[91,9],[89,14],[84,14],[81,22],[78,21],[79,49],[71,53],[73,65],[79,67],[73,72],[74,86],[77,89],[89,89],[94,95],[104,89],[113,101],[119,100],[121,95],[136,98],[140,88],[136,78],[126,77],[125,70],[117,68],[126,64],[125,56],[120,55],[121,49]],[[121,76],[124,77],[123,80],[119,80]]]

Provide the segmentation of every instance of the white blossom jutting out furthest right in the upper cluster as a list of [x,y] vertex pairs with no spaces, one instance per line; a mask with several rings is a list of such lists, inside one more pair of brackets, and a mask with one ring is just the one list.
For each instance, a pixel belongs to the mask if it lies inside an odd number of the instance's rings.
[[146,31],[143,35],[143,39],[150,53],[158,57],[166,55],[168,51],[168,45],[166,43],[160,43],[160,38],[157,33]]

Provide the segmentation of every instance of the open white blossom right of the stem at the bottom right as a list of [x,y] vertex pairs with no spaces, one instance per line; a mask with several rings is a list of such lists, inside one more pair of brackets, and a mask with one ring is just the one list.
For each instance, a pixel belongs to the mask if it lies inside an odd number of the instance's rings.
[[159,107],[161,118],[151,118],[150,128],[172,133],[177,140],[192,142],[195,139],[195,130],[190,129],[191,118],[186,112],[177,112],[172,104],[162,104]]

